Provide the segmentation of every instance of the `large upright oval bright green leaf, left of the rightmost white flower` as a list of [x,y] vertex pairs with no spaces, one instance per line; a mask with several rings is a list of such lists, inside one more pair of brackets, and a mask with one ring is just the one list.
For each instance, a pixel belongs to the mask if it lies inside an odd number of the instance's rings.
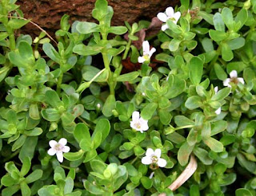
[[190,80],[193,84],[199,84],[202,80],[203,62],[199,57],[192,57],[188,65]]

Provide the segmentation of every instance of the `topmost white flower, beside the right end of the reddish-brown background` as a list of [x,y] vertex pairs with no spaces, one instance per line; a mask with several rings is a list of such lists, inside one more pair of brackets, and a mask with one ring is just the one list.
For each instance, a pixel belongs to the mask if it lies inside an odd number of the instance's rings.
[[[166,8],[166,14],[160,12],[160,13],[158,13],[157,17],[162,22],[167,22],[167,20],[170,19],[172,22],[177,24],[178,19],[181,17],[181,13],[180,12],[175,12],[174,13],[174,8],[167,7]],[[166,29],[168,29],[168,25],[167,24],[162,25],[162,31],[165,31]]]

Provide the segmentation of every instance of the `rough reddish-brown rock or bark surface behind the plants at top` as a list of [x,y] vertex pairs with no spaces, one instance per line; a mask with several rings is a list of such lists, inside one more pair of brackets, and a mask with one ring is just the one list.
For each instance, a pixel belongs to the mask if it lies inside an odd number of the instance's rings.
[[[59,29],[63,14],[70,15],[70,22],[76,20],[92,22],[91,11],[95,0],[18,0],[18,5],[25,18],[32,19],[50,33]],[[124,25],[124,22],[138,22],[141,19],[151,20],[167,6],[174,6],[178,0],[108,0],[114,9],[112,25]],[[23,28],[24,33],[37,32],[34,25]]]

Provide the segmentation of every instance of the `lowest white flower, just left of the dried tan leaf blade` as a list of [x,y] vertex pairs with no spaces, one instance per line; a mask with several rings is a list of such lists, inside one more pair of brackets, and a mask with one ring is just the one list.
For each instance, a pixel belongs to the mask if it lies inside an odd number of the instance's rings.
[[161,149],[158,148],[153,151],[152,148],[148,148],[146,150],[146,156],[142,158],[142,163],[145,165],[157,164],[158,167],[166,167],[166,160],[160,157]]

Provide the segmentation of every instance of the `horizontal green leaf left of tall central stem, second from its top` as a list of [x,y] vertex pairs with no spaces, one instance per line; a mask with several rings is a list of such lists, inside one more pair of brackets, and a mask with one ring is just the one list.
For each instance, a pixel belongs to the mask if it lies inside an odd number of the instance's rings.
[[75,45],[73,52],[82,56],[95,55],[102,51],[103,47],[99,45]]

